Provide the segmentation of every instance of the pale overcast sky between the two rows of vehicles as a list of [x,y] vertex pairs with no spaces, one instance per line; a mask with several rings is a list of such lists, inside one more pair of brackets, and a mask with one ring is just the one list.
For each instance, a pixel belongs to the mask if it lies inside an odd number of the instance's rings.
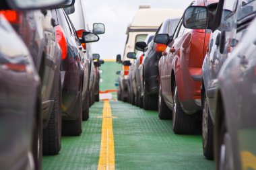
[[92,44],[92,52],[101,58],[123,57],[126,30],[139,5],[151,8],[172,8],[184,10],[192,0],[84,0],[90,28],[94,22],[105,24],[105,34],[99,35],[100,41]]

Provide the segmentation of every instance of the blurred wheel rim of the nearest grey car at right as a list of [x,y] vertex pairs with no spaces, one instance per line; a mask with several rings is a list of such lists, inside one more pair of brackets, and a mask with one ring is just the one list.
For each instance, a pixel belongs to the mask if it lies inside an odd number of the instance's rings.
[[232,144],[230,135],[225,132],[223,136],[222,144],[220,145],[220,170],[231,170],[234,169],[233,158],[232,158]]

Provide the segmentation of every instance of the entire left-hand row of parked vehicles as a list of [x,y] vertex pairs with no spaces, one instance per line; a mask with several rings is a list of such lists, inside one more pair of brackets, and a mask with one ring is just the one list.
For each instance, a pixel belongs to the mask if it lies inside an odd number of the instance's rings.
[[105,28],[90,32],[82,3],[0,2],[1,169],[41,169],[42,154],[59,153],[62,134],[81,134],[98,101],[103,61],[90,43]]

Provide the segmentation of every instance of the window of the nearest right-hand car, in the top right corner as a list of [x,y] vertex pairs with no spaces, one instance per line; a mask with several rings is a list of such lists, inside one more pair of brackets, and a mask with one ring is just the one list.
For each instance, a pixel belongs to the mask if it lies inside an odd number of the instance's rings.
[[255,0],[243,0],[242,4],[238,7],[238,21],[247,17],[256,11]]

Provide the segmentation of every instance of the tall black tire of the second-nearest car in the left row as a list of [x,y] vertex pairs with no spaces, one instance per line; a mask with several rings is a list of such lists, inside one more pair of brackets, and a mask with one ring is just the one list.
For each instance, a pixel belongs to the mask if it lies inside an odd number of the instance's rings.
[[58,88],[55,90],[55,100],[53,110],[48,122],[48,125],[43,130],[43,154],[57,155],[61,151],[61,103],[62,103],[62,89],[61,77],[59,77]]

